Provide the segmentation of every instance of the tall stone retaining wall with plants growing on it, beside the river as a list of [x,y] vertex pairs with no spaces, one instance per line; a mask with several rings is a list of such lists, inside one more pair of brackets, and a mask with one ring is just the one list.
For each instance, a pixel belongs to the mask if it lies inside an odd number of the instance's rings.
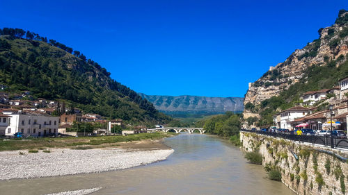
[[[245,151],[262,155],[264,167],[277,167],[282,175],[281,182],[296,194],[348,194],[347,160],[318,151],[330,149],[256,133],[241,132],[240,140]],[[348,156],[347,152],[332,152]]]

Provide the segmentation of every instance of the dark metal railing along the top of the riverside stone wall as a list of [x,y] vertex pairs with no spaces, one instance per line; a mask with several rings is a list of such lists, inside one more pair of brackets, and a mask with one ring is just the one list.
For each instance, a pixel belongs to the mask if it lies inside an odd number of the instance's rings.
[[[242,129],[241,131],[257,133],[260,135],[268,135],[271,137],[280,137],[283,139],[290,139],[292,141],[297,141],[297,142],[306,142],[306,143],[312,144],[313,146],[314,144],[319,144],[324,147],[331,147],[330,135],[326,135],[326,136],[295,135],[290,133],[276,133],[276,132],[269,132],[269,131],[247,130],[247,129]],[[335,146],[335,149],[348,149],[348,139],[333,136],[333,146]]]

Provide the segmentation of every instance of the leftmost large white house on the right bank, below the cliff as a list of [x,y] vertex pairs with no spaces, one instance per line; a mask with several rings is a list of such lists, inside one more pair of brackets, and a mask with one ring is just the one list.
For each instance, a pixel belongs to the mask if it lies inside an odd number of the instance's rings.
[[[310,110],[302,106],[296,106],[284,110],[283,112],[280,112],[280,128],[291,129],[291,122],[294,121],[294,119],[304,117],[308,114],[310,114]],[[278,124],[278,121],[276,121],[276,124]]]

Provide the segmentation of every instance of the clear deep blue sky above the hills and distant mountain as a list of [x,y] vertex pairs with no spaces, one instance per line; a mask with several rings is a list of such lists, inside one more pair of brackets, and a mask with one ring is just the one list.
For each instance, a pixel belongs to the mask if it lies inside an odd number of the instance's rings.
[[81,51],[136,92],[244,96],[348,1],[3,1],[0,27]]

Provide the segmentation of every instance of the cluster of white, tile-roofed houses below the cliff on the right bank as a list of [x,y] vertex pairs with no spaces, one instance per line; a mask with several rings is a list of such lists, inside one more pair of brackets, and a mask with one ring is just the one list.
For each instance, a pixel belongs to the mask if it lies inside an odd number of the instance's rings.
[[335,129],[347,132],[347,92],[348,77],[331,89],[305,92],[300,97],[299,105],[274,115],[274,126],[289,130],[299,127],[328,130],[332,125]]

